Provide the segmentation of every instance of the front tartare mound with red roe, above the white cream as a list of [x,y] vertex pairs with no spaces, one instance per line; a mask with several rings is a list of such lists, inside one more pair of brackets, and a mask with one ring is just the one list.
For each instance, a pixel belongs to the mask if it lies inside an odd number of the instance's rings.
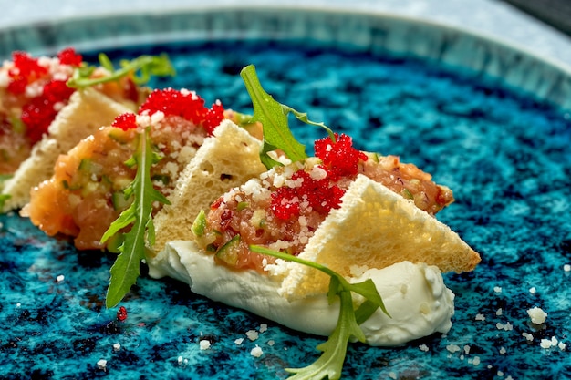
[[453,200],[451,190],[416,166],[359,151],[346,135],[317,140],[315,151],[316,158],[275,167],[213,202],[198,244],[215,252],[215,260],[223,265],[264,272],[265,263],[274,259],[251,252],[249,246],[299,254],[329,212],[341,206],[341,197],[358,174],[431,214]]

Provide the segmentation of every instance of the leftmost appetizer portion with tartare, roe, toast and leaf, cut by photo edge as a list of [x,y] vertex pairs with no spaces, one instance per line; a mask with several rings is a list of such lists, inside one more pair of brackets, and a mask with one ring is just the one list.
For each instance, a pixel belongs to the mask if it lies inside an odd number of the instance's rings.
[[[89,66],[67,48],[56,57],[15,52],[0,67],[0,174],[8,178],[2,211],[24,206],[59,154],[136,109],[149,93],[140,87],[149,75],[172,74],[166,56],[140,56],[119,70],[104,55],[100,61]],[[147,77],[136,77],[137,70]]]

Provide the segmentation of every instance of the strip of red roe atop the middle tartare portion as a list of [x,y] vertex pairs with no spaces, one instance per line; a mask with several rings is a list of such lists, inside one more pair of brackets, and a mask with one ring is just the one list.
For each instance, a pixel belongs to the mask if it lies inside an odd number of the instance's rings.
[[175,90],[173,88],[156,89],[139,108],[139,113],[149,111],[153,114],[161,111],[165,116],[180,116],[201,125],[209,135],[212,135],[223,120],[223,106],[220,102],[213,104],[212,108],[204,107],[204,99],[192,91]]

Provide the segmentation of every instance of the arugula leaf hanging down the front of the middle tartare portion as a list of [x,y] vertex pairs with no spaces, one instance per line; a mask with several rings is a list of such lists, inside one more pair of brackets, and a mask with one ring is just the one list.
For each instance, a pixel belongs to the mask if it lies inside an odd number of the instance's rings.
[[111,267],[109,288],[105,299],[108,308],[117,305],[130,291],[130,287],[140,276],[140,262],[145,258],[146,244],[154,243],[154,225],[152,224],[152,203],[159,201],[170,204],[161,191],[154,189],[151,180],[151,166],[159,160],[152,150],[149,137],[150,128],[143,129],[137,135],[137,149],[131,159],[125,162],[128,166],[137,165],[135,179],[124,191],[125,198],[133,197],[130,207],[121,212],[109,229],[101,237],[101,242],[132,225],[124,235],[119,246],[119,256]]

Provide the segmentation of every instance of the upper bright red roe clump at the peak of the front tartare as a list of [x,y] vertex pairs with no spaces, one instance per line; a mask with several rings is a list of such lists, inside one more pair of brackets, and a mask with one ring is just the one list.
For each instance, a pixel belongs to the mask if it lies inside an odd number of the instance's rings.
[[323,161],[324,169],[331,180],[341,177],[356,176],[359,159],[366,161],[368,157],[362,151],[353,148],[353,139],[348,135],[335,134],[335,142],[327,136],[316,140],[314,144],[316,157]]

